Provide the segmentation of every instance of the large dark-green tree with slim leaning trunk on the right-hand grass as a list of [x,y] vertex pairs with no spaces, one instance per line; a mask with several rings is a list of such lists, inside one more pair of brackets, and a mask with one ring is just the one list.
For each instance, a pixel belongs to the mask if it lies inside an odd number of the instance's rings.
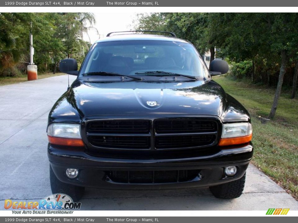
[[215,27],[211,30],[220,30],[217,44],[223,53],[234,61],[252,60],[253,82],[257,79],[256,62],[271,69],[279,64],[277,88],[269,113],[269,118],[274,118],[289,59],[297,52],[297,13],[223,13],[212,17],[210,24]]

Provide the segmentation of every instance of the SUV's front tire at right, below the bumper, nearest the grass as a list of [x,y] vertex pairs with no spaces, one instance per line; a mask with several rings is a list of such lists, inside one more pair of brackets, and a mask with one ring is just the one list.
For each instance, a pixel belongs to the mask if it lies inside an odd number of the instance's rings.
[[225,184],[220,184],[216,186],[210,186],[209,189],[211,193],[216,198],[220,199],[233,199],[238,198],[242,195],[245,184],[245,175],[238,180],[231,181]]

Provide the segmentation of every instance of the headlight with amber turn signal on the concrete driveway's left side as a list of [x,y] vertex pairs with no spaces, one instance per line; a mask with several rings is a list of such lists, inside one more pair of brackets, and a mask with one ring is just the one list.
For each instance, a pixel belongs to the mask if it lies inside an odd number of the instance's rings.
[[47,137],[55,145],[84,146],[78,124],[53,123],[47,127]]

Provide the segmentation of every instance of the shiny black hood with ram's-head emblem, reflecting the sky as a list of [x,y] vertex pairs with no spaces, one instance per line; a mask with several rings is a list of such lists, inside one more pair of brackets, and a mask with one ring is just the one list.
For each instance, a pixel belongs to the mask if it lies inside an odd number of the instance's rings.
[[226,105],[226,94],[214,81],[91,83],[76,80],[68,97],[81,117],[140,114],[221,116]]

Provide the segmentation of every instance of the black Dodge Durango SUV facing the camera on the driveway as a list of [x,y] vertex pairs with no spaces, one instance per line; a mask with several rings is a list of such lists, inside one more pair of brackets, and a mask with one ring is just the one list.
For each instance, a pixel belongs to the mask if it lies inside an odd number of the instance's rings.
[[[210,187],[242,194],[253,155],[249,113],[211,76],[196,48],[174,33],[108,34],[90,48],[48,118],[53,193],[77,201],[84,187],[160,190]],[[169,36],[166,36],[168,35]]]

